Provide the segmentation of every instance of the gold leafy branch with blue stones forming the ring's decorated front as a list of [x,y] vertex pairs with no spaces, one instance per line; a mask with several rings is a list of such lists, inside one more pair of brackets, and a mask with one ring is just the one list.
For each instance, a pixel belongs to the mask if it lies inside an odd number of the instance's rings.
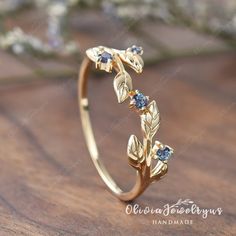
[[[106,47],[96,47],[87,51],[88,57],[93,60],[100,70],[112,72],[117,71],[113,81],[113,87],[119,103],[131,98],[130,107],[135,107],[136,96],[140,96],[140,106],[136,110],[140,114],[143,141],[139,141],[135,135],[131,135],[127,146],[129,163],[149,182],[159,180],[168,171],[167,160],[173,153],[173,149],[152,139],[160,126],[160,113],[156,102],[153,100],[148,104],[148,97],[138,90],[133,90],[132,79],[125,70],[127,65],[135,72],[143,70],[143,51],[141,47],[132,46],[126,50],[117,50]],[[136,104],[137,105],[137,104]],[[155,163],[157,160],[157,163]]]

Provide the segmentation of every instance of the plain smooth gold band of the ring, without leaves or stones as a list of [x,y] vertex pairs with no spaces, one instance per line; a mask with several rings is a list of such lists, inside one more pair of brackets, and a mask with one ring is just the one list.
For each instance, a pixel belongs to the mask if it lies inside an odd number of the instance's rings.
[[78,100],[79,100],[79,108],[80,108],[80,116],[82,121],[82,128],[84,137],[86,140],[86,144],[92,158],[92,161],[101,176],[104,183],[107,185],[109,190],[120,200],[122,201],[130,201],[139,196],[147,187],[147,183],[145,179],[142,177],[141,171],[137,171],[136,183],[134,187],[128,191],[122,191],[119,186],[112,179],[107,169],[103,165],[101,159],[99,158],[99,152],[97,148],[97,144],[94,138],[93,129],[89,116],[89,102],[88,102],[88,74],[91,68],[92,61],[85,57],[83,60],[78,79]]

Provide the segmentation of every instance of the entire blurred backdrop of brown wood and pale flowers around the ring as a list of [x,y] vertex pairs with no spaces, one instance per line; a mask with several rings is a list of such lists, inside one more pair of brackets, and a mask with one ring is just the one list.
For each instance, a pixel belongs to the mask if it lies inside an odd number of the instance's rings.
[[[153,226],[104,191],[77,104],[80,62],[97,45],[143,47],[133,85],[157,101],[158,140],[175,149],[167,177],[134,203],[191,199],[222,216]],[[235,0],[0,0],[0,234],[235,235],[235,52]],[[117,104],[111,78],[92,74],[91,118],[105,164],[128,188],[127,140],[141,138],[140,120]]]

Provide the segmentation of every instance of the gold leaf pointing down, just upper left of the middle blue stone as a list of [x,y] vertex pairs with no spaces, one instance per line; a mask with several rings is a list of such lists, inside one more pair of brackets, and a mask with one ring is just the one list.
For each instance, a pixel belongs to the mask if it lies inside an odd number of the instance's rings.
[[129,91],[132,90],[132,80],[127,72],[118,73],[113,82],[114,90],[119,103],[125,101],[129,96]]

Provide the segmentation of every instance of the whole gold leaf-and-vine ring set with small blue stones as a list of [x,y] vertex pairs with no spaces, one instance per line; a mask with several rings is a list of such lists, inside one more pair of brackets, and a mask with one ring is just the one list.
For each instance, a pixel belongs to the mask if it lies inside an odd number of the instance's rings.
[[[167,161],[173,154],[173,149],[168,145],[164,145],[159,141],[155,141],[154,144],[152,143],[153,136],[160,125],[160,114],[157,104],[154,100],[149,102],[149,97],[144,96],[140,91],[133,90],[132,79],[124,67],[125,64],[137,73],[141,73],[144,65],[141,58],[142,53],[142,48],[137,46],[129,47],[126,50],[117,50],[103,46],[90,48],[86,51],[87,57],[83,60],[79,73],[78,99],[80,115],[90,156],[109,190],[123,201],[133,200],[150,183],[160,180],[167,173]],[[137,170],[136,183],[128,192],[123,192],[118,187],[99,158],[89,117],[87,97],[88,72],[93,62],[99,70],[112,72],[114,69],[117,72],[113,86],[118,103],[122,103],[130,98],[129,107],[136,110],[141,118],[143,141],[139,141],[135,135],[131,135],[128,141],[127,154],[129,164]]]

